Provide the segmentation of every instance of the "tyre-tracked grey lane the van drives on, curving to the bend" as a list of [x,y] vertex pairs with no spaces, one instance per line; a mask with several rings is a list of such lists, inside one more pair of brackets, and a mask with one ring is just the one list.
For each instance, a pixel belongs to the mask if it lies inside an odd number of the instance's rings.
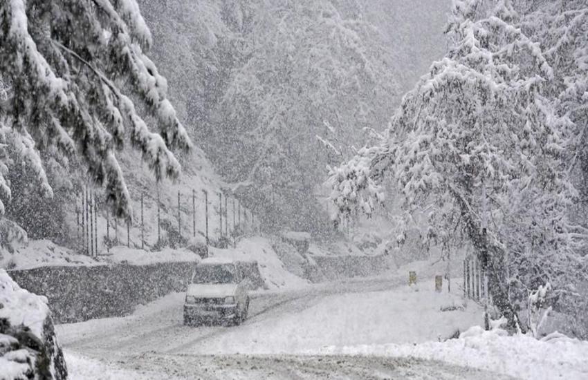
[[263,327],[268,319],[279,321],[295,315],[334,294],[375,292],[390,289],[398,282],[376,278],[329,283],[290,292],[261,292],[252,296],[249,318],[238,327],[183,325],[184,294],[174,293],[139,307],[134,314],[125,318],[58,325],[57,334],[66,348],[99,357],[102,356],[101,352],[107,352],[109,357],[118,354],[126,357],[129,352],[178,353],[190,350],[207,354],[210,351],[201,344],[203,341],[218,339],[252,326]]

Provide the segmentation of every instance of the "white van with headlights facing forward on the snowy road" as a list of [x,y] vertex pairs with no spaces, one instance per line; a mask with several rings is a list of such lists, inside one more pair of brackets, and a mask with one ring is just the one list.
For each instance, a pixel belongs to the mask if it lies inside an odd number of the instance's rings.
[[241,324],[247,318],[247,280],[232,261],[205,258],[194,269],[184,302],[184,324],[229,321]]

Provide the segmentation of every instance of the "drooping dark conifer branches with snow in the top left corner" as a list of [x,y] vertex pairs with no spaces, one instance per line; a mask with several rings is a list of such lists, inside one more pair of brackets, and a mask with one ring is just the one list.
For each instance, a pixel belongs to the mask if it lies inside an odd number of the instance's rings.
[[[0,138],[47,195],[52,189],[39,150],[51,147],[79,159],[120,216],[130,211],[117,160],[127,140],[158,180],[180,173],[169,149],[187,150],[191,142],[167,100],[165,78],[145,55],[150,45],[135,0],[0,3],[0,77],[9,88],[0,102]],[[156,120],[157,132],[147,127],[146,115]],[[3,162],[0,211],[11,197],[6,170]]]

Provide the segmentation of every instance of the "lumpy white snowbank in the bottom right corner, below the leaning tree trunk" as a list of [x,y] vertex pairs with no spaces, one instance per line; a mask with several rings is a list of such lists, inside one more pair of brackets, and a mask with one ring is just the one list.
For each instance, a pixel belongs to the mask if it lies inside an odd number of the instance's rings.
[[551,334],[542,340],[472,327],[460,339],[416,345],[329,347],[309,354],[377,355],[445,361],[520,379],[588,379],[588,342]]

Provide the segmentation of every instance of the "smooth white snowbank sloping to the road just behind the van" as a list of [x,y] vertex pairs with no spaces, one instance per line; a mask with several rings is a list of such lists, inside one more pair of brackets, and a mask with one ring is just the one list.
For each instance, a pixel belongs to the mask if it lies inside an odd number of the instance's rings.
[[253,236],[239,240],[237,247],[218,249],[209,247],[211,257],[231,260],[255,260],[268,289],[297,289],[309,285],[309,281],[288,272],[282,260],[275,253],[270,240]]

